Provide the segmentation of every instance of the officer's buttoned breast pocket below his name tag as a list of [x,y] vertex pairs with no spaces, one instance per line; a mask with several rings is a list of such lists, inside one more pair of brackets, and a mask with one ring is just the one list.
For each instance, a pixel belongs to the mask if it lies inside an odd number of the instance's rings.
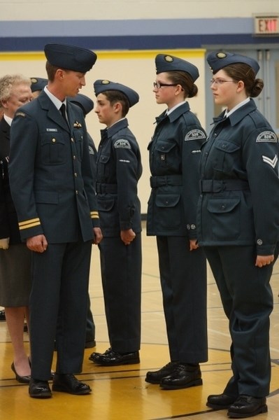
[[45,165],[66,162],[66,145],[62,133],[41,134],[41,160]]

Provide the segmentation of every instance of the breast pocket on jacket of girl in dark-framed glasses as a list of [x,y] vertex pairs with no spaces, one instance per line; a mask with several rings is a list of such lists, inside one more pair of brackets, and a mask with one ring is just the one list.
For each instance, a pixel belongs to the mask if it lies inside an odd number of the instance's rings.
[[177,162],[181,160],[176,146],[176,143],[172,141],[159,141],[155,145],[154,157],[159,168],[176,168]]

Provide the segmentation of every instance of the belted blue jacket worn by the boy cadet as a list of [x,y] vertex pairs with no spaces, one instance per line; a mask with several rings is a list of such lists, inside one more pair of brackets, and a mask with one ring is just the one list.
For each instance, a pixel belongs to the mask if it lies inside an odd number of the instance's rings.
[[141,153],[124,118],[102,130],[97,155],[96,192],[103,237],[120,230],[141,232],[137,183],[142,174]]

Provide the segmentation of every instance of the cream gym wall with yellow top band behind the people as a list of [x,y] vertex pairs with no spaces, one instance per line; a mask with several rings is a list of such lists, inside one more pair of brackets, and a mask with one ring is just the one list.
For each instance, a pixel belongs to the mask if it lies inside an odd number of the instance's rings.
[[[93,69],[86,75],[86,86],[80,93],[86,94],[94,101],[93,83],[96,79],[108,79],[132,87],[140,95],[140,102],[133,106],[127,115],[129,127],[134,132],[141,148],[143,175],[138,184],[141,199],[141,213],[146,214],[150,194],[149,165],[147,146],[154,131],[155,117],[166,108],[157,105],[152,92],[155,81],[155,56],[158,53],[176,55],[187,59],[199,69],[200,77],[196,80],[199,87],[197,97],[189,99],[190,108],[205,127],[205,50],[141,50],[141,51],[95,51],[98,59]],[[45,55],[43,52],[8,52],[0,53],[0,77],[7,73],[22,73],[30,77],[44,77]],[[96,147],[99,144],[99,130],[104,128],[99,123],[94,110],[87,115],[87,130],[90,132]]]

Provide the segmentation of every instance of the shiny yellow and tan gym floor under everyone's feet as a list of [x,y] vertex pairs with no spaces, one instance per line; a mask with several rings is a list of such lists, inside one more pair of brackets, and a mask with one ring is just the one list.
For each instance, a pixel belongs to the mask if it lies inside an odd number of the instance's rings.
[[[272,380],[269,412],[257,419],[278,420],[279,407],[279,261],[271,285],[274,310],[271,315]],[[252,285],[251,285],[252,287]],[[143,229],[142,346],[139,365],[98,367],[88,357],[93,350],[108,348],[106,318],[101,288],[99,251],[94,246],[90,277],[90,297],[96,323],[96,349],[85,349],[83,373],[78,375],[92,387],[91,395],[54,393],[49,400],[29,398],[28,387],[19,384],[10,365],[13,352],[6,322],[0,323],[0,419],[1,420],[219,420],[227,410],[215,412],[206,407],[210,393],[221,393],[231,375],[227,318],[213,276],[208,269],[208,347],[207,363],[201,364],[203,386],[163,391],[145,382],[148,370],[169,362],[162,294],[159,285],[155,237]],[[24,333],[28,349],[28,334]],[[55,360],[54,360],[55,362]]]

